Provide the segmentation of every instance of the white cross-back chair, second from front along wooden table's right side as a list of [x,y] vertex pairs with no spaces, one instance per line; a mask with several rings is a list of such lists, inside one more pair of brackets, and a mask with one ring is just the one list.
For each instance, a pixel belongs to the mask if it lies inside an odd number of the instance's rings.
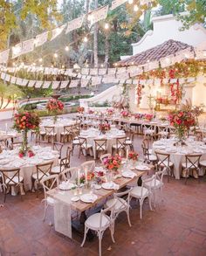
[[[130,218],[129,218],[129,209],[130,209],[130,190],[120,192],[120,193],[114,193],[114,197],[108,201],[106,201],[106,207],[110,207],[113,205],[114,200],[116,200],[116,204],[114,206],[114,218],[116,219],[120,212],[125,211],[127,213],[127,220],[128,220],[128,225],[131,225]],[[122,198],[127,195],[127,198]]]

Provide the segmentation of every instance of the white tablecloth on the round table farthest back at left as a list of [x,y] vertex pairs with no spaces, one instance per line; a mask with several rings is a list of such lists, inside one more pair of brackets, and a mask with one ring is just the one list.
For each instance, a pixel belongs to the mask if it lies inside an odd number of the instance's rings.
[[60,135],[64,132],[64,126],[74,125],[76,122],[69,118],[58,118],[58,120],[53,123],[53,119],[44,119],[41,122],[40,128],[44,131],[45,126],[54,127],[54,131],[57,133],[57,140],[60,142]]

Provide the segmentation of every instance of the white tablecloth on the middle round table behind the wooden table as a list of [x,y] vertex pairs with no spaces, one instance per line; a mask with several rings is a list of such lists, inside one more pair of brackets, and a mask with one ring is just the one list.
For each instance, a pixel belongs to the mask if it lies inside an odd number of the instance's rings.
[[80,136],[85,137],[87,143],[93,145],[93,157],[96,159],[96,150],[94,140],[106,139],[107,140],[107,152],[112,153],[112,146],[116,142],[116,138],[125,136],[125,132],[117,128],[112,128],[110,131],[106,132],[105,135],[100,134],[100,130],[97,128],[90,128],[87,130],[82,130]]

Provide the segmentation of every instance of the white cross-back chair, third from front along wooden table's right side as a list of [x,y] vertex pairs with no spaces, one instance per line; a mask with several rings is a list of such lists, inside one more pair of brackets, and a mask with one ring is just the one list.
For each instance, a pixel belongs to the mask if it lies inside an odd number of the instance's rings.
[[152,204],[151,204],[151,196],[152,196],[152,190],[150,188],[146,188],[144,186],[145,183],[150,183],[154,181],[155,176],[152,176],[150,178],[147,178],[145,180],[142,180],[141,186],[135,186],[131,193],[130,196],[134,197],[139,200],[140,202],[140,216],[142,218],[142,205],[144,203],[145,198],[148,197],[148,202],[149,202],[149,208],[152,211]]

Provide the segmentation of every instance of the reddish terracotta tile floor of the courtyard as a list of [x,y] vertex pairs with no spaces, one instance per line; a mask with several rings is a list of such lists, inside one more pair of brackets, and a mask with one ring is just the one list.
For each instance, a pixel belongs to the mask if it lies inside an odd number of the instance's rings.
[[[135,141],[135,149],[140,151],[140,140]],[[76,151],[72,156],[72,166],[86,161],[80,159]],[[20,197],[7,197],[0,208],[0,254],[34,256],[98,255],[98,238],[86,241],[80,247],[81,238],[74,233],[73,239],[65,238],[54,231],[52,209],[45,223],[42,222],[44,205],[35,193],[27,192],[24,201]],[[124,213],[115,224],[115,244],[109,232],[102,241],[103,255],[206,255],[206,177],[201,183],[189,178],[171,179],[163,190],[163,201],[158,197],[154,211],[149,211],[148,201],[143,206],[140,220],[139,204],[133,202],[130,211],[132,227],[127,225]],[[0,194],[0,202],[3,195]]]

